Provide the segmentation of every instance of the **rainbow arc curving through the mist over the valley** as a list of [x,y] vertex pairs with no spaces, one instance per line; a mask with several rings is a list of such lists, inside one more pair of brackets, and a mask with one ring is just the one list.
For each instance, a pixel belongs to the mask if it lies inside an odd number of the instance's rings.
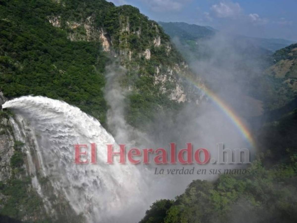
[[247,126],[243,123],[243,121],[237,116],[237,114],[230,108],[224,100],[218,97],[213,91],[208,89],[205,85],[198,83],[193,80],[193,78],[186,77],[195,87],[197,87],[200,91],[206,94],[218,107],[222,110],[225,115],[233,122],[233,124],[239,129],[243,137],[249,142],[249,144],[255,148],[256,143],[252,134],[249,132]]

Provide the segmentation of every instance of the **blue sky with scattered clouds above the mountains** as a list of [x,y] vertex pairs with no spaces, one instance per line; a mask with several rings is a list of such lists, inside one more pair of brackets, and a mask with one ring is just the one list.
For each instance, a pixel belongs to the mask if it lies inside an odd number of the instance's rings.
[[297,0],[112,0],[150,19],[212,26],[252,37],[297,41]]

